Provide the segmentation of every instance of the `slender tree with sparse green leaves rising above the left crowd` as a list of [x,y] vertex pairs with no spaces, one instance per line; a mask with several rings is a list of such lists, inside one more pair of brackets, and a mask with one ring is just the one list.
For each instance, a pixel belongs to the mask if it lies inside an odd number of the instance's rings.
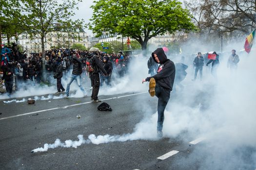
[[[82,0],[22,0],[23,11],[27,13],[27,32],[41,39],[42,58],[45,58],[46,35],[53,32],[73,32],[82,28],[82,21],[71,19]],[[43,60],[44,61],[44,60]],[[44,71],[43,67],[43,71]]]

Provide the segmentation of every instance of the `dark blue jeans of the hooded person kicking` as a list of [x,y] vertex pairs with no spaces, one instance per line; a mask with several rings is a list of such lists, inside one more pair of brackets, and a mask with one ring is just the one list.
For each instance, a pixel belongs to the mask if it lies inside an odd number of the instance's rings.
[[170,99],[171,90],[165,89],[160,85],[156,84],[155,87],[156,96],[158,97],[158,131],[163,129],[163,120],[164,120],[164,109]]

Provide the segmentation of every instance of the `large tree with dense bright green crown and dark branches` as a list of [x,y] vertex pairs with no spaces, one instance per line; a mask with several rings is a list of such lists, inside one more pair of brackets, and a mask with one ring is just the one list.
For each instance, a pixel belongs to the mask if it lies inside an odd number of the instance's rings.
[[189,11],[177,0],[98,0],[91,8],[89,28],[93,33],[129,36],[142,50],[157,35],[196,29]]

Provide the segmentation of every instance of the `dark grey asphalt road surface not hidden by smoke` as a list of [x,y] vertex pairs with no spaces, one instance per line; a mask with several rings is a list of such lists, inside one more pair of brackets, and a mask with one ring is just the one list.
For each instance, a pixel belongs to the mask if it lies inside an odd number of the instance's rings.
[[[157,98],[151,98],[148,93],[100,96],[100,99],[105,99],[102,102],[110,104],[113,111],[98,111],[100,103],[92,103],[90,97],[39,100],[35,104],[3,103],[1,100],[0,169],[208,169],[201,163],[204,155],[209,153],[201,151],[199,156],[195,154],[205,148],[204,142],[189,137],[187,132],[176,138],[89,143],[77,148],[58,147],[31,153],[45,143],[54,143],[57,138],[64,142],[78,140],[78,135],[87,139],[90,134],[115,136],[133,133],[137,123],[157,110]],[[78,119],[77,115],[81,118]],[[169,155],[161,158],[166,153]]]

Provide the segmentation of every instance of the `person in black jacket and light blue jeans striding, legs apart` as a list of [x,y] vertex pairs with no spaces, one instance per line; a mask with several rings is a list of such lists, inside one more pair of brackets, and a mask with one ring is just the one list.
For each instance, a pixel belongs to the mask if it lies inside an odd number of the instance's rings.
[[65,98],[69,96],[69,88],[74,80],[77,81],[77,84],[80,87],[81,91],[83,92],[84,97],[86,97],[87,96],[86,92],[80,83],[81,74],[82,74],[82,62],[76,57],[76,55],[72,57],[72,65],[73,65],[73,71],[72,71],[71,79],[67,84]]

